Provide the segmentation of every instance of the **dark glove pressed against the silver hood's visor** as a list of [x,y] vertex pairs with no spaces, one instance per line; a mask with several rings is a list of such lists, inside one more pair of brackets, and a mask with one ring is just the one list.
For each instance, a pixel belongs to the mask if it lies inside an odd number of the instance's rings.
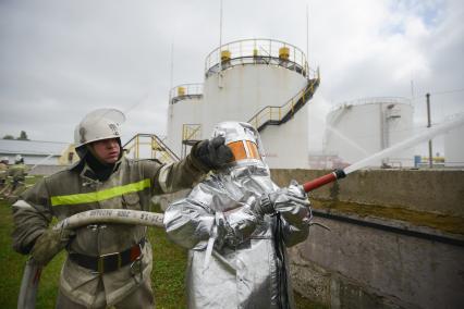
[[224,145],[224,141],[225,138],[222,136],[200,141],[195,153],[196,158],[211,170],[222,168],[233,159],[232,150]]

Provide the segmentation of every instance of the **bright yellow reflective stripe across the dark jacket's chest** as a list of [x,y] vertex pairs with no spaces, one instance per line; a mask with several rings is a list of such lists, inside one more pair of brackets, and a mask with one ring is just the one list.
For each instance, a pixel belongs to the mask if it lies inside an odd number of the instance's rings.
[[150,180],[147,178],[138,183],[118,186],[118,187],[105,189],[101,191],[52,196],[51,206],[95,202],[95,201],[106,200],[117,196],[121,196],[123,194],[141,191],[149,187],[150,187]]

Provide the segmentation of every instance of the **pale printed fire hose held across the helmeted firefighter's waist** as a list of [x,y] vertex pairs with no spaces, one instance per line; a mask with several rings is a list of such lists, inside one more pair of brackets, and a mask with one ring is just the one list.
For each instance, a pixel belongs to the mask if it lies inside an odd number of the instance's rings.
[[[60,221],[53,230],[75,230],[89,224],[117,223],[157,226],[164,228],[162,224],[163,214],[148,211],[127,209],[94,209],[76,213]],[[36,307],[37,288],[40,281],[41,267],[30,258],[24,268],[21,282],[20,295],[17,297],[17,309],[34,309]]]

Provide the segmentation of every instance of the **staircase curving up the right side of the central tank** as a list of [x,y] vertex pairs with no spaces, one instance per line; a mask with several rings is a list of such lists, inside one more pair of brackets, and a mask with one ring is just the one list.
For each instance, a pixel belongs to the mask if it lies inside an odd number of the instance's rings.
[[317,77],[307,79],[306,86],[300,90],[295,96],[288,100],[281,107],[265,107],[259,110],[247,122],[254,125],[258,132],[265,129],[268,125],[281,125],[293,118],[293,115],[308,102],[316,89],[320,84],[319,70],[317,70]]

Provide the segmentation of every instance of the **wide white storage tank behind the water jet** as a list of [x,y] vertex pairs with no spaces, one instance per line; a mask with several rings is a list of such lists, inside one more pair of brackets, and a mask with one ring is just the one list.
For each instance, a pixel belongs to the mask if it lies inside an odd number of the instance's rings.
[[[327,115],[323,149],[352,164],[413,135],[411,101],[404,98],[367,98],[342,103]],[[406,149],[373,166],[413,166],[414,150]]]

